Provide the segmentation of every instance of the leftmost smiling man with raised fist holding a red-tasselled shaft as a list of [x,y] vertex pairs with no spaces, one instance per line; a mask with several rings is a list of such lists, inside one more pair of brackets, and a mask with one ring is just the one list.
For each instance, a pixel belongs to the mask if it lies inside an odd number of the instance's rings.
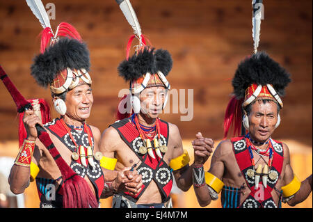
[[[44,47],[34,58],[31,74],[40,86],[50,88],[54,107],[61,116],[42,125],[40,115],[35,113],[38,107],[24,113],[26,136],[10,172],[10,189],[16,194],[23,193],[29,182],[35,180],[40,207],[99,207],[99,198],[112,195],[113,191],[136,193],[132,187],[141,178],[136,182],[138,175],[127,168],[104,177],[105,161],[98,152],[101,134],[97,127],[86,123],[93,106],[89,51],[70,24],[63,22],[57,30],[56,35],[51,34],[49,27],[42,32]],[[37,139],[36,124],[49,134],[56,148],[54,152]],[[73,177],[76,183],[65,187]],[[106,184],[108,178],[110,183]]]

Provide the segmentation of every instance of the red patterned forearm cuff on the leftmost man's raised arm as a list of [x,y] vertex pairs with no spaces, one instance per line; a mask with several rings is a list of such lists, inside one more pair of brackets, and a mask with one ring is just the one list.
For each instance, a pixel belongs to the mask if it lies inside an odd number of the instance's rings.
[[14,164],[18,166],[31,166],[31,157],[33,157],[33,150],[35,149],[35,141],[24,140],[22,147],[19,150],[19,154],[15,159]]

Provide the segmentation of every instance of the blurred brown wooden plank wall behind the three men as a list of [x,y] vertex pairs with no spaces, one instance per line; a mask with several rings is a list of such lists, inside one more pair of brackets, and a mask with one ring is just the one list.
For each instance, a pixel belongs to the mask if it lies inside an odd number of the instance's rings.
[[[44,0],[45,4],[50,1]],[[164,114],[183,138],[201,131],[220,139],[223,116],[238,63],[252,52],[251,0],[133,0],[143,33],[154,47],[168,49],[174,61],[172,88],[193,89],[193,119]],[[115,1],[54,0],[56,19],[73,24],[90,48],[95,102],[88,122],[102,131],[113,122],[118,92],[128,88],[116,68],[125,58],[132,31]],[[312,1],[266,1],[259,50],[265,50],[292,74],[275,136],[312,145]],[[0,64],[26,98],[45,97],[30,77],[42,31],[25,1],[0,1]],[[187,92],[186,92],[187,93]],[[182,96],[182,95],[181,95]],[[15,105],[0,86],[0,139],[17,139]],[[5,102],[4,102],[5,101]],[[171,103],[171,102],[170,102]],[[183,104],[185,107],[187,104]],[[170,106],[172,110],[172,106]],[[56,112],[52,111],[52,116]]]

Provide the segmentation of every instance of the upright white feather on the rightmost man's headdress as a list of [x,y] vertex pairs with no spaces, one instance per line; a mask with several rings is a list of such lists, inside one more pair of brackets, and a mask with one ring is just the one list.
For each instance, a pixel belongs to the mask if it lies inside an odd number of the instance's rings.
[[257,53],[257,47],[259,47],[259,35],[261,30],[261,19],[263,10],[262,0],[252,0],[252,38],[254,53]]

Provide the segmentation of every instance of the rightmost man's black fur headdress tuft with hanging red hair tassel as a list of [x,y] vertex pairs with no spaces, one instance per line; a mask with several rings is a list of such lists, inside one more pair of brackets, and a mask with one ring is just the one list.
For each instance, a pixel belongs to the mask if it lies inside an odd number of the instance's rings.
[[230,127],[234,127],[234,134],[242,131],[242,106],[246,99],[247,88],[252,84],[273,86],[279,96],[284,95],[284,88],[291,82],[290,74],[265,52],[256,52],[239,63],[232,79],[234,92],[227,105],[224,118],[224,138],[227,137]]

